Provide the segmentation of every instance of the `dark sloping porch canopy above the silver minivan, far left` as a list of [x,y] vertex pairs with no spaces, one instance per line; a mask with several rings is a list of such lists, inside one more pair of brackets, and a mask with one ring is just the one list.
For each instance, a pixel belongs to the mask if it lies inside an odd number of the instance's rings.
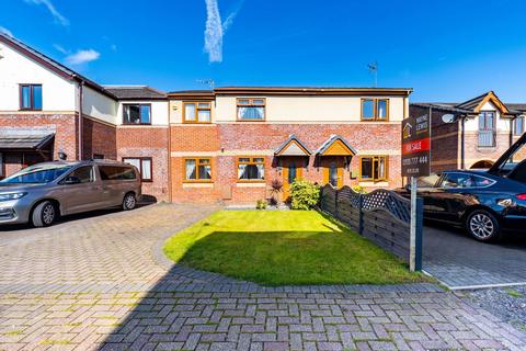
[[0,134],[0,151],[42,151],[49,146],[55,133],[24,132]]

